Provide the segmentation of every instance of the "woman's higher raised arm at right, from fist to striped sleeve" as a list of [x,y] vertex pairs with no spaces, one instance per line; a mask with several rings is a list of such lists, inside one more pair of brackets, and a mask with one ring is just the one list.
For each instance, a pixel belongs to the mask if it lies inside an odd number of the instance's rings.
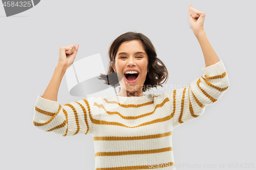
[[205,59],[203,76],[192,81],[188,87],[166,91],[170,102],[173,127],[200,116],[205,106],[217,102],[229,88],[226,68],[211,47],[203,30],[205,12],[189,5],[189,25],[196,35]]

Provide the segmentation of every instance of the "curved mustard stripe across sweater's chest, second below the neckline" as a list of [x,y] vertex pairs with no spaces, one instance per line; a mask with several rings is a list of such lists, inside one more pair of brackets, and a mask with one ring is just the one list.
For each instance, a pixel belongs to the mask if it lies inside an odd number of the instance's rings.
[[139,115],[139,116],[123,116],[123,115],[121,115],[119,112],[110,112],[110,111],[107,111],[107,110],[105,109],[105,107],[104,107],[102,104],[99,105],[99,104],[97,104],[97,103],[94,103],[94,106],[97,106],[97,107],[99,107],[99,108],[104,109],[105,112],[108,113],[108,114],[110,114],[110,115],[112,115],[112,114],[117,114],[117,115],[119,115],[119,116],[120,116],[121,118],[123,118],[123,119],[129,119],[129,120],[131,120],[131,119],[138,119],[138,118],[141,118],[141,117],[145,117],[145,116],[152,115],[152,114],[156,111],[157,108],[162,107],[162,106],[163,106],[166,102],[168,102],[168,101],[169,101],[168,98],[164,99],[164,101],[163,101],[161,104],[157,104],[157,105],[155,106],[155,109],[154,109],[152,112],[145,113],[145,114],[142,114],[142,115]]

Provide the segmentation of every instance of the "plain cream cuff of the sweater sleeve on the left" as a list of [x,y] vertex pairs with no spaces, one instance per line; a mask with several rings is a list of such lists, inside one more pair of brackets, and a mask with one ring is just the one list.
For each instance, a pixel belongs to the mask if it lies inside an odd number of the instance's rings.
[[40,94],[38,94],[35,106],[41,110],[56,113],[59,109],[59,102],[44,99]]

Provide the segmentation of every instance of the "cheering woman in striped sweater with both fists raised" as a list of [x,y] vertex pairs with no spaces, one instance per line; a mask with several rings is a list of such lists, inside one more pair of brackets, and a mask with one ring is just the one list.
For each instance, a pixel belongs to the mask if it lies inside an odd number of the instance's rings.
[[[200,116],[205,106],[214,104],[229,87],[225,66],[203,30],[205,12],[189,5],[188,17],[205,59],[204,75],[188,87],[144,95],[143,91],[165,82],[168,72],[151,41],[129,32],[115,39],[109,49],[109,72],[118,74],[119,94],[59,105],[58,88],[78,44],[60,47],[53,77],[36,100],[33,124],[62,136],[92,134],[97,170],[176,169],[173,129]],[[106,75],[100,78],[108,80]],[[116,81],[111,79],[108,84],[114,86]]]

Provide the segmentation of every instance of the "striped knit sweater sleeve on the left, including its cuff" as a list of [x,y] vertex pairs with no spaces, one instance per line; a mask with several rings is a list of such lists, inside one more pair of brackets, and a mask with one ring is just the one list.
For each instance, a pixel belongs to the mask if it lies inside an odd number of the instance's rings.
[[33,124],[46,132],[62,136],[92,134],[89,99],[60,105],[59,102],[42,98],[35,102]]

